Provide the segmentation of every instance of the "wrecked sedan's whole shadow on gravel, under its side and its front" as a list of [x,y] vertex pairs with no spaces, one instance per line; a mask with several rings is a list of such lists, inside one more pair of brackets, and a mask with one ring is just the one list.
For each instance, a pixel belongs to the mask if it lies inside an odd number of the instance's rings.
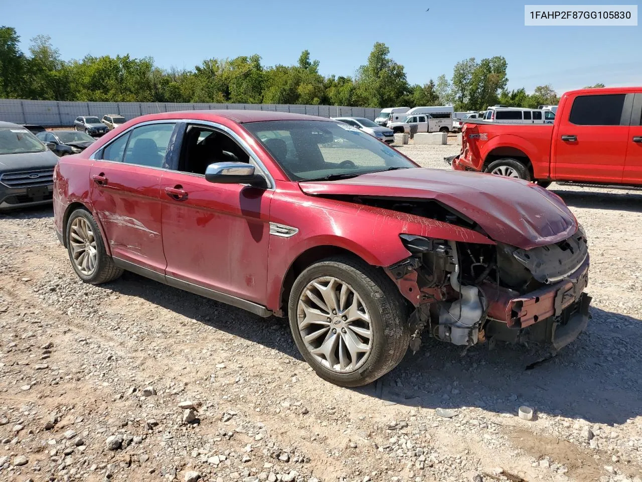
[[[261,318],[130,272],[108,287],[302,361],[285,319]],[[528,405],[540,413],[622,424],[642,415],[642,321],[596,308],[591,315],[586,332],[533,370],[525,368],[546,357],[545,350],[508,344],[489,350],[483,344],[462,356],[460,348],[424,337],[419,352],[408,352],[379,383],[355,391],[404,406],[516,414]]]

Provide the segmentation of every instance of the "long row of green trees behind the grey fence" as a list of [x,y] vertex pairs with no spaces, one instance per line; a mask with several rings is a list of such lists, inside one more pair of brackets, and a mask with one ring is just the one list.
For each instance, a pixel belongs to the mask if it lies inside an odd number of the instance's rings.
[[[557,104],[550,85],[507,90],[504,57],[467,58],[453,75],[410,84],[390,49],[376,42],[354,76],[323,76],[308,50],[291,66],[263,66],[259,55],[210,58],[194,69],[162,69],[152,57],[87,55],[65,61],[46,35],[19,48],[14,28],[0,27],[0,98],[94,102],[207,102],[394,107],[454,105],[479,111],[501,103],[517,107]],[[596,84],[593,87],[603,87]]]

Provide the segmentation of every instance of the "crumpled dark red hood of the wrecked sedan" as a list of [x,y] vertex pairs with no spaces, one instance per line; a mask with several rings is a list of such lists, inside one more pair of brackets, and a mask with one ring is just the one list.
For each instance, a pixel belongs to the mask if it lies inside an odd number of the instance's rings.
[[479,224],[492,240],[522,249],[559,242],[577,230],[575,216],[559,196],[499,175],[413,168],[299,186],[318,196],[434,199]]

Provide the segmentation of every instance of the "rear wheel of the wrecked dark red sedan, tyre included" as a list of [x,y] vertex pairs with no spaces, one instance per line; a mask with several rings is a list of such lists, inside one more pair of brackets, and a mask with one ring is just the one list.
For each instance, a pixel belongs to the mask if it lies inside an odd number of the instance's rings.
[[107,254],[98,224],[88,211],[78,209],[71,213],[66,239],[71,265],[85,283],[99,285],[123,274]]

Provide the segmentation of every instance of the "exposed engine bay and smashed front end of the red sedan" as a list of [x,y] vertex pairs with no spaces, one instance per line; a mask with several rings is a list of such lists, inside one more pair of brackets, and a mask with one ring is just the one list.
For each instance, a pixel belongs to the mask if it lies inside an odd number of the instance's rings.
[[[483,232],[436,201],[358,202]],[[559,350],[586,328],[591,298],[583,291],[589,255],[581,227],[566,240],[533,249],[400,237],[411,256],[386,272],[415,307],[413,350],[424,330],[460,346],[495,338],[551,344]]]

